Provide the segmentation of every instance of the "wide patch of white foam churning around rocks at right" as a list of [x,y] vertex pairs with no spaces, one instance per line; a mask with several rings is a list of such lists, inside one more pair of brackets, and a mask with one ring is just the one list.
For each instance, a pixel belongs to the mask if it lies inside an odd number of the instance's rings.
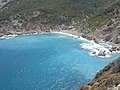
[[[111,47],[112,46],[108,45],[107,43],[97,44],[93,41],[89,41],[87,43],[80,44],[80,48],[89,50],[90,51],[89,54],[91,56],[98,56],[98,57],[102,57],[102,58],[105,58],[105,57],[109,58],[109,57],[111,57],[111,54],[120,53],[120,51],[110,52]],[[104,55],[99,56],[100,53],[104,53],[105,56]]]

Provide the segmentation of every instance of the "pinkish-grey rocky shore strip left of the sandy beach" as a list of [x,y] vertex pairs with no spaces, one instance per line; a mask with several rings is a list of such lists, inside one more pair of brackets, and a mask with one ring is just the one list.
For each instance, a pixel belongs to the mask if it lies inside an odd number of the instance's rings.
[[13,29],[9,27],[0,27],[0,37],[9,36],[9,35],[23,35],[23,34],[41,34],[49,33],[53,31],[60,31],[60,27],[50,27],[50,26],[36,26],[32,28],[22,28],[22,29]]

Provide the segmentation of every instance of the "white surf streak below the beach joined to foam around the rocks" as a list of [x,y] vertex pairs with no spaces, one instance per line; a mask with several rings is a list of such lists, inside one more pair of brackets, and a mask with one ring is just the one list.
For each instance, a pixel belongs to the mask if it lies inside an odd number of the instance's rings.
[[97,44],[95,43],[93,40],[87,40],[83,37],[78,37],[77,35],[73,35],[73,34],[69,34],[69,33],[64,33],[64,32],[52,32],[52,33],[58,33],[58,34],[63,34],[63,35],[68,35],[71,36],[73,38],[78,38],[82,41],[86,41],[86,43],[82,43],[80,44],[80,48],[82,49],[87,49],[89,50],[89,54],[91,56],[98,56],[98,54],[100,52],[104,52],[105,56],[99,56],[101,58],[105,58],[105,57],[110,57],[111,52],[109,51],[109,48],[112,47],[111,45],[108,45],[107,43],[101,43],[101,44]]

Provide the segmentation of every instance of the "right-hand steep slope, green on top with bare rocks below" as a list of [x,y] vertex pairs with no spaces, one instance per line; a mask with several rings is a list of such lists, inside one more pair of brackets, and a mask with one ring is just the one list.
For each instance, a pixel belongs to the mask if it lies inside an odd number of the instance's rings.
[[88,39],[120,44],[120,0],[101,6],[96,15],[81,23],[78,31]]

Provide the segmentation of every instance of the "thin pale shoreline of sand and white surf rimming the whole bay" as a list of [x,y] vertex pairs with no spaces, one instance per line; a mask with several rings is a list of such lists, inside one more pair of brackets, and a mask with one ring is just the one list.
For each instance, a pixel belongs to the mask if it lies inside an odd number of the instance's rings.
[[94,40],[89,40],[86,38],[82,37],[82,33],[78,33],[75,30],[60,30],[60,31],[50,31],[50,32],[38,32],[38,33],[23,33],[23,34],[10,34],[10,35],[3,35],[0,37],[0,39],[9,39],[9,38],[14,38],[17,36],[21,35],[35,35],[35,34],[49,34],[49,33],[56,33],[56,34],[62,34],[62,35],[67,35],[79,40],[86,41],[86,43],[80,44],[80,49],[85,49],[88,50],[88,53],[90,56],[98,56],[101,58],[109,58],[111,57],[111,54],[116,54],[120,53],[120,50],[112,50],[114,47],[112,44],[109,42],[99,42],[96,43]]

